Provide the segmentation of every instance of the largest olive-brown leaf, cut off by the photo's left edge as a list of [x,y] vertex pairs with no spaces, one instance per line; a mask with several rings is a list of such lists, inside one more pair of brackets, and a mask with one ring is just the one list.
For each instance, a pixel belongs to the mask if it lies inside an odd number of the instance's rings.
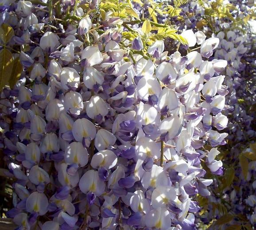
[[13,67],[12,53],[7,49],[0,51],[0,90],[8,83]]

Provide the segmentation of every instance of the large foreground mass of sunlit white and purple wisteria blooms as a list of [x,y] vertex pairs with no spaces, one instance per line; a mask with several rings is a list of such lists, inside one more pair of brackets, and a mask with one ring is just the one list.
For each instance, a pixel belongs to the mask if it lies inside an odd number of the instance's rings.
[[22,47],[13,56],[23,71],[0,100],[14,179],[7,215],[20,229],[195,229],[193,197],[209,196],[213,181],[201,163],[223,173],[215,157],[228,135],[227,61],[209,60],[219,38],[183,31],[200,50],[168,56],[163,40],[147,42],[149,20],[105,12],[95,23],[93,12],[63,1],[60,11],[77,21],[66,23],[52,1],[12,2],[1,18],[16,29],[8,44]]

